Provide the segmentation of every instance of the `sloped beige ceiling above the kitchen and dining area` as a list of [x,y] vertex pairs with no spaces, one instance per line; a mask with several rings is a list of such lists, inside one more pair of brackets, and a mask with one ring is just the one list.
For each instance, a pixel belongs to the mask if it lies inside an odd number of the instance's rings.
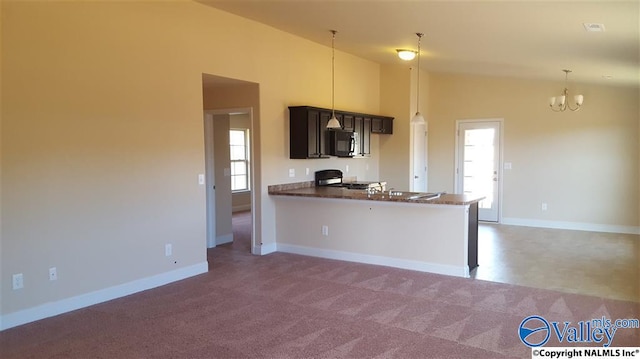
[[197,1],[381,64],[421,32],[428,71],[640,86],[640,0]]

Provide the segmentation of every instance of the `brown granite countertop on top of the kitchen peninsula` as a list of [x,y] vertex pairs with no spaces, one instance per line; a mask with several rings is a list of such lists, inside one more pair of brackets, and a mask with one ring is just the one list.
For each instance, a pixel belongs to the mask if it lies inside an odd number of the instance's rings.
[[[406,195],[389,196],[388,191],[367,193],[366,190],[346,189],[342,187],[315,187],[313,181],[288,183],[273,185],[268,187],[269,194],[274,196],[295,196],[295,197],[315,197],[315,198],[341,198],[357,199],[383,202],[407,202],[425,204],[447,204],[447,205],[468,205],[484,199],[484,197],[471,196],[465,194],[441,194],[436,198],[415,198],[409,199]],[[418,192],[405,192],[420,195]],[[426,194],[426,193],[424,193]]]

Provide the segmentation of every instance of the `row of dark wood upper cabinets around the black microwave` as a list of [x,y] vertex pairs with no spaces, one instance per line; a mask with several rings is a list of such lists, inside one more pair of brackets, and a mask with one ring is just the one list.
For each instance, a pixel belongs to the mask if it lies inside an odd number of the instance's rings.
[[[329,158],[327,123],[331,110],[311,106],[289,107],[289,158]],[[357,133],[356,157],[371,155],[371,134],[393,133],[393,117],[335,111],[342,130]]]

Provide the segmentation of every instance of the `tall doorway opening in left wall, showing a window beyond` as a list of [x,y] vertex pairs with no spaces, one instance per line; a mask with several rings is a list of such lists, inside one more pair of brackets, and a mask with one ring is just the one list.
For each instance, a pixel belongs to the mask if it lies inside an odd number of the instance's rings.
[[[224,245],[233,251],[262,254],[260,153],[256,151],[260,138],[259,84],[202,74],[202,95],[206,248]],[[232,130],[245,134],[242,143]],[[238,156],[238,149],[243,156]],[[241,182],[244,185],[238,187]],[[238,212],[243,214],[241,222],[234,218]],[[242,226],[241,235],[238,225]],[[236,240],[242,245],[237,246]]]

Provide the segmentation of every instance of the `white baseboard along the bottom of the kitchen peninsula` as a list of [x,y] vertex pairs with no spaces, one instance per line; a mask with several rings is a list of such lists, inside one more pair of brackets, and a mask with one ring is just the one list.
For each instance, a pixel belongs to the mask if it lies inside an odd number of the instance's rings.
[[301,254],[311,257],[320,257],[327,259],[337,259],[341,261],[366,263],[382,265],[387,267],[409,269],[420,272],[429,272],[436,274],[445,274],[456,277],[469,277],[468,266],[451,266],[444,264],[420,262],[409,259],[398,259],[391,257],[374,256],[369,254],[360,254],[353,252],[336,251],[332,249],[319,249],[313,247],[298,246],[293,244],[278,243],[278,252]]

